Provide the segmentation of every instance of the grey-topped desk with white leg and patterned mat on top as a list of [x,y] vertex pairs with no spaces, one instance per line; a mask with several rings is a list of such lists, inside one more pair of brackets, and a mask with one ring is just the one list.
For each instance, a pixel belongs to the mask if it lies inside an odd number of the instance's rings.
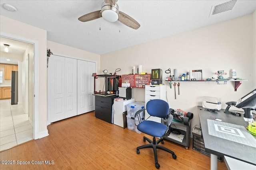
[[[222,122],[236,125],[248,126],[248,122],[241,117],[224,113],[224,109],[216,112],[205,111],[202,106],[197,106],[202,134],[204,137],[204,147],[206,152],[211,154],[211,170],[217,170],[217,156],[229,156],[256,166],[256,148],[242,145],[233,141],[222,139],[208,134],[207,119],[219,118]],[[248,132],[249,133],[249,132]],[[254,138],[256,138],[254,136]]]

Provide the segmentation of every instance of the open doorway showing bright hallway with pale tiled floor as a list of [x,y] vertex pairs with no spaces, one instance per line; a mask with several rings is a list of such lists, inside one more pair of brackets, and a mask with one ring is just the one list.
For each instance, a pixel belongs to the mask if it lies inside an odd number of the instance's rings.
[[[3,44],[9,45],[7,53]],[[34,44],[1,36],[0,45],[1,71],[5,71],[3,65],[18,65],[18,104],[11,105],[11,99],[0,100],[2,151],[35,139]],[[4,80],[0,86],[10,86],[10,81]]]

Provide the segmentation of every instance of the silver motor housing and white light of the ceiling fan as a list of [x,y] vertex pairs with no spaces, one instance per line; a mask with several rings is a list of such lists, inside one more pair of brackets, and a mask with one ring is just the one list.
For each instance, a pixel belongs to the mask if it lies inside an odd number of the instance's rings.
[[117,4],[111,5],[109,3],[103,2],[101,5],[101,15],[109,22],[115,22],[118,20],[119,7]]

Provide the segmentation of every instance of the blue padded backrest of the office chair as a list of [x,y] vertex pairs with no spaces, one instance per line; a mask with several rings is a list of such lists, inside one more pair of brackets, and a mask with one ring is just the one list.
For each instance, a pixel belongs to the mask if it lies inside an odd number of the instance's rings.
[[146,108],[148,114],[151,116],[166,118],[169,113],[169,104],[160,99],[150,100]]

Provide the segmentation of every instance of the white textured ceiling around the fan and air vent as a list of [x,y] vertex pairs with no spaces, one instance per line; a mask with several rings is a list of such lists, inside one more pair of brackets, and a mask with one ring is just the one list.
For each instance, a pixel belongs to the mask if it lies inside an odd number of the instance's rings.
[[[101,55],[252,14],[256,9],[255,0],[237,0],[233,10],[209,17],[212,6],[227,1],[118,0],[119,10],[140,23],[137,30],[103,18],[78,20],[100,10],[103,0],[0,0],[0,14],[47,30],[49,41]],[[17,12],[4,10],[4,3],[15,6]]]

